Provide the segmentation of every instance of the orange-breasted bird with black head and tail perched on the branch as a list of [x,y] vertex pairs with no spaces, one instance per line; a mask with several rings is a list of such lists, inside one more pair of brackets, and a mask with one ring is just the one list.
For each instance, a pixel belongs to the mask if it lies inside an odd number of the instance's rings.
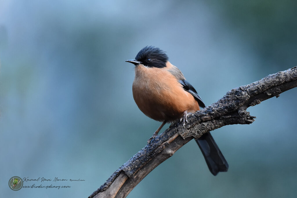
[[[135,59],[125,61],[135,65],[132,93],[138,108],[151,119],[162,122],[153,137],[166,123],[179,118],[185,127],[189,114],[199,111],[199,106],[206,107],[195,88],[168,59],[166,52],[158,47],[146,46]],[[210,132],[195,141],[213,175],[228,170],[229,165]]]

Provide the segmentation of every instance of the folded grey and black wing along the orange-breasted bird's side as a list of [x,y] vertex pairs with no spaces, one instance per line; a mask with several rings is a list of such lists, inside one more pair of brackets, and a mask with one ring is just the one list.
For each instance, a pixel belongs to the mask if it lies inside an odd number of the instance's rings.
[[181,71],[174,65],[172,65],[172,67],[170,67],[170,69],[168,69],[168,71],[176,77],[176,79],[178,80],[178,82],[180,84],[182,84],[183,88],[185,91],[189,92],[190,94],[192,94],[195,98],[195,100],[197,100],[199,106],[201,107],[205,107],[205,104],[203,103],[202,99],[200,98],[200,96],[198,95],[197,91],[195,90],[195,88],[188,82],[186,81],[183,73],[181,73]]

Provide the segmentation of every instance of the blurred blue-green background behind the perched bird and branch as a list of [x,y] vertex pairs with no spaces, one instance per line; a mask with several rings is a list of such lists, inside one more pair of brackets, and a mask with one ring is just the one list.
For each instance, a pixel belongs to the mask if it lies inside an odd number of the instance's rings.
[[[1,197],[88,197],[146,145],[160,123],[136,106],[134,66],[124,62],[146,45],[166,51],[210,105],[297,65],[296,8],[289,0],[0,0]],[[212,132],[227,173],[214,177],[192,140],[128,197],[295,197],[296,94],[248,108],[251,125]],[[12,191],[13,176],[85,181]]]

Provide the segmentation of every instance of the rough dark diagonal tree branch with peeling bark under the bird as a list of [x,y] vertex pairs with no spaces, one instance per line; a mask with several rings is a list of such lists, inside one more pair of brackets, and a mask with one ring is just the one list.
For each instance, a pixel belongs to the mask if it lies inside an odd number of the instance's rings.
[[161,135],[150,138],[143,149],[116,170],[89,198],[126,197],[146,175],[191,139],[225,125],[251,124],[255,117],[246,111],[249,106],[279,97],[280,93],[294,87],[297,87],[296,67],[228,91],[217,102],[189,116],[186,129],[175,121]]

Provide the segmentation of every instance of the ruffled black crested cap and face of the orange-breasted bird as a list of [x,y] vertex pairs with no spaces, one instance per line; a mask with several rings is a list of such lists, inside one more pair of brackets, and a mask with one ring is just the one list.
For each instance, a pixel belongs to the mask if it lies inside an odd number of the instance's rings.
[[138,52],[135,59],[144,66],[162,68],[166,67],[168,56],[158,47],[146,46]]

